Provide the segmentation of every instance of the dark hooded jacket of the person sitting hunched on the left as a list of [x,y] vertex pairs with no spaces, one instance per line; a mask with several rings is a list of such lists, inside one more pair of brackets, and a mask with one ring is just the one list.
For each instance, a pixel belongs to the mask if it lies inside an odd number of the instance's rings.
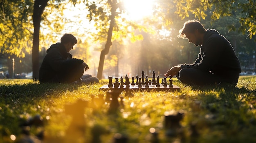
[[65,75],[83,63],[81,59],[72,59],[72,55],[67,53],[62,43],[51,45],[46,52],[47,55],[45,55],[39,70],[40,83],[61,82],[63,81],[61,75]]

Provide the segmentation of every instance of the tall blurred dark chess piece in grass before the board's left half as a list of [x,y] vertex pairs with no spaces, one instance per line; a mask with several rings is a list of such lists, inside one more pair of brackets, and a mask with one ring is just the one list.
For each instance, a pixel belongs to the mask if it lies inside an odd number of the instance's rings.
[[113,90],[111,92],[112,100],[111,100],[110,105],[109,105],[109,110],[108,110],[109,113],[116,113],[117,112],[118,107],[120,106],[119,101],[118,101],[118,97],[119,97],[120,94],[121,94],[121,92],[119,90]]

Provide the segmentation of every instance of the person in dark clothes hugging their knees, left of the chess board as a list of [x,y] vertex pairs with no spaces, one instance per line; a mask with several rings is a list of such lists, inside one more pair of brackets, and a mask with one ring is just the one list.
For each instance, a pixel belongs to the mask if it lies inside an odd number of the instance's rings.
[[[89,66],[81,59],[72,59],[68,53],[77,43],[72,34],[64,34],[61,43],[56,43],[47,49],[47,55],[39,70],[40,83],[72,83],[78,81]],[[89,76],[87,82],[99,82],[97,77]]]

